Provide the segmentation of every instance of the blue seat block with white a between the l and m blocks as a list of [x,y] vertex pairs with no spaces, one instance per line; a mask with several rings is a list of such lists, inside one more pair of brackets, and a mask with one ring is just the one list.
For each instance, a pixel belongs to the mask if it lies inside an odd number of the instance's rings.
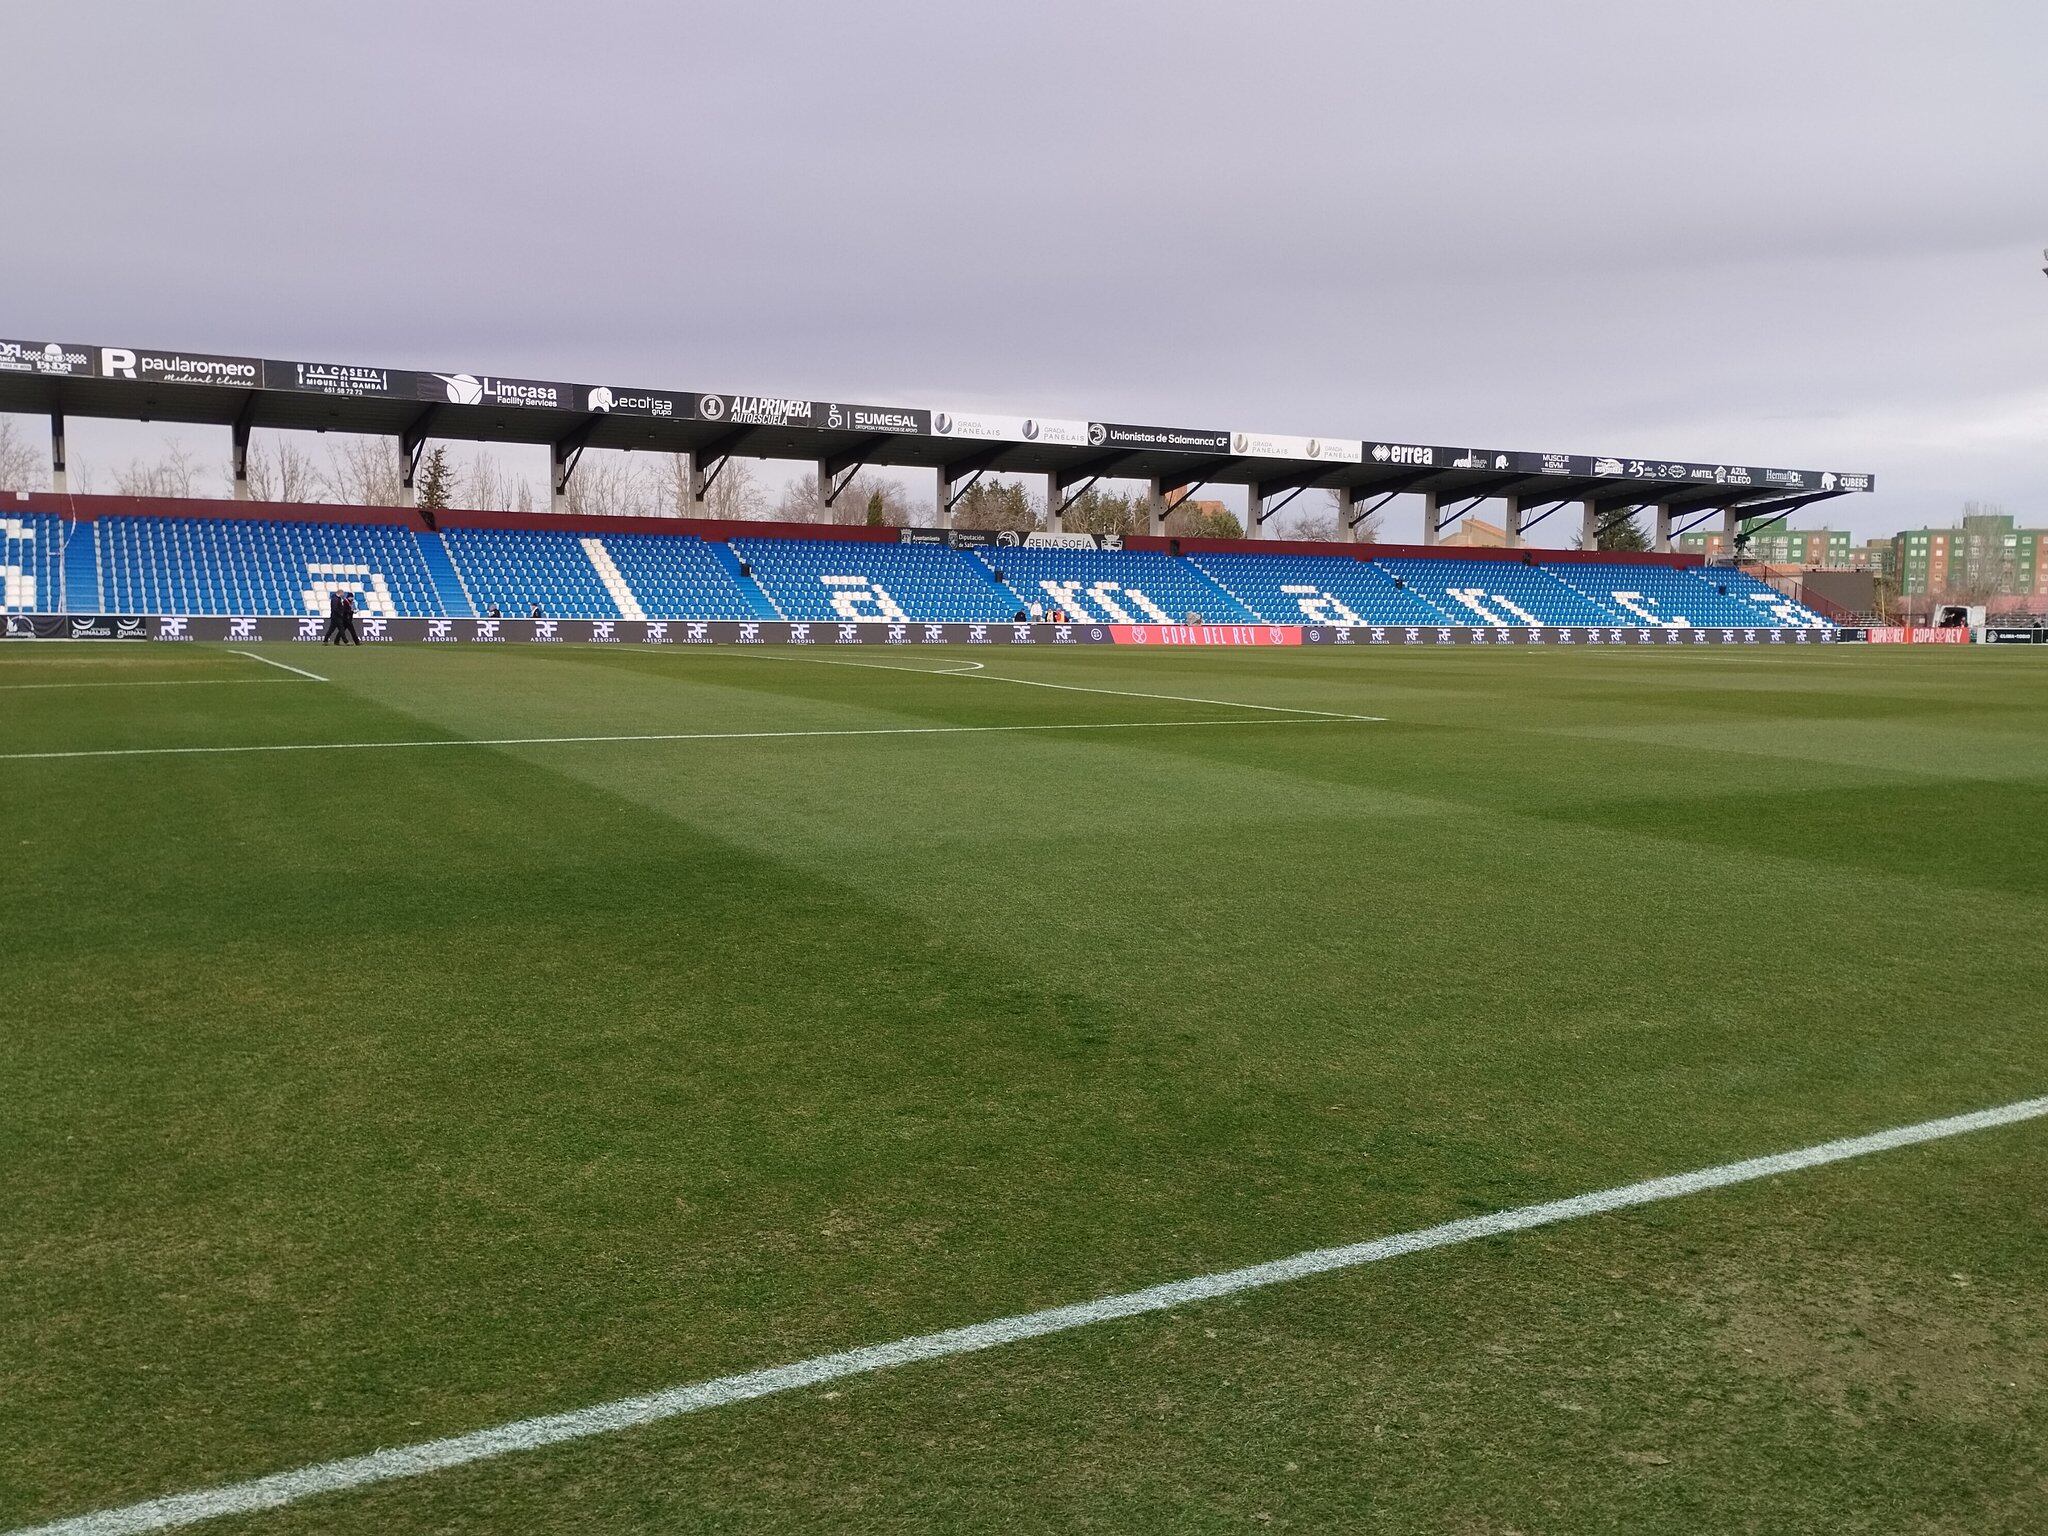
[[[782,618],[1001,623],[1024,604],[946,545],[733,539]],[[1006,551],[1008,553],[1008,551]]]

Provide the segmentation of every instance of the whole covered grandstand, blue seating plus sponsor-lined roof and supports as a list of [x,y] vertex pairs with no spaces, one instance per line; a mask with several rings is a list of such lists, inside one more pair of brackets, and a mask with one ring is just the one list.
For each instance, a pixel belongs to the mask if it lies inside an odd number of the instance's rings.
[[[0,340],[0,412],[49,422],[51,489],[20,494],[8,508],[0,596],[16,616],[301,618],[324,612],[330,594],[352,592],[360,614],[393,623],[997,625],[1057,614],[1110,627],[1819,631],[1829,621],[1815,608],[1706,567],[1677,541],[1708,520],[1757,528],[1872,489],[1864,473],[31,340]],[[70,418],[225,428],[233,500],[72,496]],[[399,506],[258,504],[248,481],[258,428],[391,438]],[[547,446],[553,512],[416,506],[422,453],[442,438]],[[567,516],[567,489],[590,449],[676,455],[690,516]],[[696,516],[709,512],[709,492],[735,457],[813,465],[827,506],[868,467],[930,473],[936,526]],[[1044,526],[1006,541],[952,528],[952,510],[987,475],[1042,479]],[[1145,485],[1143,530],[1098,539],[1065,526],[1065,512],[1102,481]],[[1206,485],[1243,489],[1247,539],[1163,537],[1165,516]],[[1268,539],[1272,518],[1311,489],[1333,498],[1337,539]],[[1419,504],[1419,539],[1366,543],[1368,520],[1401,498]],[[1497,508],[1501,545],[1446,543],[1446,528],[1481,506]],[[1579,549],[1532,549],[1530,530],[1565,508],[1579,514]],[[1612,526],[1638,514],[1649,514],[1651,551],[1597,551]]]

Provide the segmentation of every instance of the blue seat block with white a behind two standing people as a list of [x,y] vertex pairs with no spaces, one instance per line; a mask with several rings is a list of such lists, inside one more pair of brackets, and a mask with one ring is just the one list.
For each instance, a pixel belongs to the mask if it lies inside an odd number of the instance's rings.
[[98,559],[109,612],[324,614],[346,590],[371,616],[440,614],[420,543],[381,522],[100,518]]

